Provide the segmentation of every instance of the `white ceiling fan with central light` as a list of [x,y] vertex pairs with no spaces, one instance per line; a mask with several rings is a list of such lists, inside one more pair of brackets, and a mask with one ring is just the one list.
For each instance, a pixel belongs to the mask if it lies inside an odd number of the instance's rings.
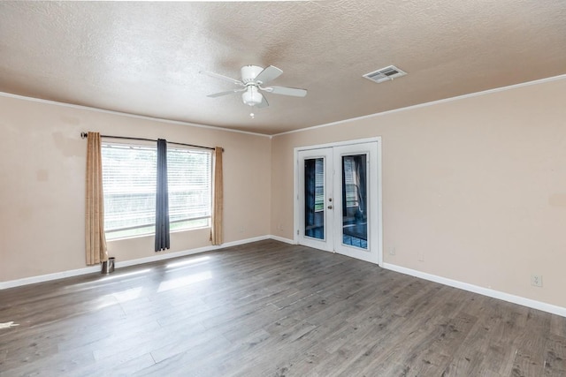
[[245,104],[249,106],[256,106],[257,108],[269,106],[269,103],[265,100],[264,94],[261,94],[260,90],[266,93],[291,95],[294,97],[304,97],[307,95],[307,91],[305,89],[298,89],[295,87],[264,87],[266,83],[273,79],[277,79],[281,73],[283,73],[283,71],[273,65],[270,65],[265,69],[257,65],[244,65],[241,67],[241,80],[232,79],[214,72],[201,71],[201,73],[217,79],[224,79],[225,81],[229,81],[238,86],[237,88],[226,92],[209,94],[207,95],[208,97],[215,98],[226,94],[241,93],[241,100]]

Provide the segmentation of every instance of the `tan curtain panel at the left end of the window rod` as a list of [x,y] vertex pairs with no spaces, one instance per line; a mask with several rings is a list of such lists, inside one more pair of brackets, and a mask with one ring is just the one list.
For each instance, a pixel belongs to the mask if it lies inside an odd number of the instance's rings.
[[88,132],[87,137],[85,238],[88,266],[108,260],[104,236],[103,161],[98,132]]

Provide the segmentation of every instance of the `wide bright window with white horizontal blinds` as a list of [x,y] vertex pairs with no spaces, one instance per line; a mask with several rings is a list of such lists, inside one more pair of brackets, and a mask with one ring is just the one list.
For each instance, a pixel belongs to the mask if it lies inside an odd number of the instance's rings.
[[[103,143],[106,238],[152,234],[156,221],[157,148]],[[212,154],[167,148],[171,230],[210,226]]]

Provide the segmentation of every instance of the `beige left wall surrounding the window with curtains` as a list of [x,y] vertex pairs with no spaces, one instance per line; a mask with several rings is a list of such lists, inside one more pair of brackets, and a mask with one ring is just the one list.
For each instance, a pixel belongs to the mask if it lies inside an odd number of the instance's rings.
[[[0,130],[0,282],[86,266],[84,131],[224,147],[225,242],[269,234],[267,137],[5,96]],[[210,245],[209,235],[208,229],[172,233],[168,253]],[[119,261],[149,257],[153,242],[112,241],[109,252]]]

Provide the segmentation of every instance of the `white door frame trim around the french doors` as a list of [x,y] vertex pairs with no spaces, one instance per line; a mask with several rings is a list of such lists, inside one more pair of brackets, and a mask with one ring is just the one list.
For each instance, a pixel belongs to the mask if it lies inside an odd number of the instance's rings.
[[[376,136],[373,138],[367,138],[367,139],[353,139],[353,140],[345,140],[345,141],[340,141],[340,142],[334,142],[334,143],[327,143],[327,144],[317,144],[317,145],[312,145],[312,146],[304,146],[304,147],[294,147],[294,154],[293,154],[293,158],[294,158],[294,164],[293,164],[293,181],[294,181],[294,192],[293,192],[293,229],[294,229],[294,234],[293,234],[293,239],[294,239],[294,244],[298,245],[299,244],[299,230],[301,227],[301,209],[299,208],[299,203],[300,203],[300,188],[299,188],[299,152],[300,151],[307,151],[310,149],[320,149],[320,148],[327,148],[327,147],[344,147],[344,146],[351,146],[351,145],[356,145],[356,144],[363,144],[363,143],[370,143],[370,142],[376,142],[377,144],[377,159],[378,159],[378,171],[377,171],[377,175],[378,175],[378,186],[377,186],[377,190],[378,190],[378,195],[377,195],[377,200],[378,200],[378,213],[377,213],[377,221],[378,221],[378,241],[377,242],[373,242],[372,243],[372,247],[377,246],[378,247],[378,265],[382,266],[383,265],[383,210],[382,210],[382,184],[381,184],[381,178],[382,178],[382,173],[381,173],[381,137],[380,136]],[[336,253],[335,251],[333,251],[333,253]]]

